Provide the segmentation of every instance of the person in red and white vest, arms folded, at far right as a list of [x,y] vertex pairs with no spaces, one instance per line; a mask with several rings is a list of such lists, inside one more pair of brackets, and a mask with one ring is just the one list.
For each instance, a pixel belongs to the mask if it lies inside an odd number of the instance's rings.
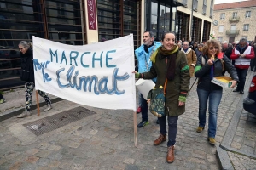
[[250,67],[250,61],[253,59],[254,50],[251,46],[248,46],[247,39],[241,38],[239,44],[233,49],[230,59],[235,60],[236,72],[238,75],[238,85],[233,92],[240,92],[244,94],[243,88],[246,82],[247,71]]

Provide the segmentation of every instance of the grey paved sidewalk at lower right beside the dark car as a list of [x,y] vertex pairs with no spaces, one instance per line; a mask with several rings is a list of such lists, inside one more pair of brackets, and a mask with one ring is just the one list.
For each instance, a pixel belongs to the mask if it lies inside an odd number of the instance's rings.
[[242,108],[253,75],[255,72],[248,71],[246,93],[241,98],[237,98],[241,94],[233,96],[235,110],[230,108],[233,116],[220,144],[220,148],[228,151],[226,156],[220,155],[224,161],[230,161],[230,165],[224,165],[226,169],[256,169],[256,116]]

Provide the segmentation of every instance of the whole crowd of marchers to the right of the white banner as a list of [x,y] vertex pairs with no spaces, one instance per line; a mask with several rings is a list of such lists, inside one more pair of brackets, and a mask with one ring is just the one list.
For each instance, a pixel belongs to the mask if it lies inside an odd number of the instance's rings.
[[[153,144],[159,145],[167,140],[168,163],[175,161],[177,120],[185,112],[190,78],[198,79],[196,92],[199,110],[195,131],[201,133],[205,129],[208,111],[207,140],[209,144],[216,144],[218,106],[223,87],[212,83],[212,78],[229,76],[233,92],[244,94],[248,69],[256,71],[255,48],[256,43],[249,44],[245,38],[241,38],[237,44],[220,43],[215,39],[192,43],[184,38],[176,41],[175,32],[166,31],[157,42],[154,32],[144,32],[143,45],[135,50],[137,70],[133,73],[138,79],[152,79],[154,88],[166,87],[165,116],[157,118],[160,136]],[[137,125],[139,128],[149,124],[148,101],[139,94],[137,113],[142,113],[142,121]]]

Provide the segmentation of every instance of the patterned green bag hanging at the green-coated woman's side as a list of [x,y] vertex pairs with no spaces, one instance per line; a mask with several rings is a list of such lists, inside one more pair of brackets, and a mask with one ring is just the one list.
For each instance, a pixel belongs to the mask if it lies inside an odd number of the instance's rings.
[[165,116],[165,105],[166,105],[166,83],[164,88],[153,88],[148,93],[148,99],[150,100],[149,111],[157,117]]

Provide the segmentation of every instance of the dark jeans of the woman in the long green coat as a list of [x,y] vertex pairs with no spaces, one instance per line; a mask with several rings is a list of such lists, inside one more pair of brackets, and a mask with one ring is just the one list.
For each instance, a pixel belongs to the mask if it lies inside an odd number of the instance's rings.
[[[176,143],[176,135],[177,135],[177,119],[178,116],[167,116],[168,117],[168,142],[167,146],[172,146]],[[160,133],[166,135],[166,116],[162,116],[158,118]]]

